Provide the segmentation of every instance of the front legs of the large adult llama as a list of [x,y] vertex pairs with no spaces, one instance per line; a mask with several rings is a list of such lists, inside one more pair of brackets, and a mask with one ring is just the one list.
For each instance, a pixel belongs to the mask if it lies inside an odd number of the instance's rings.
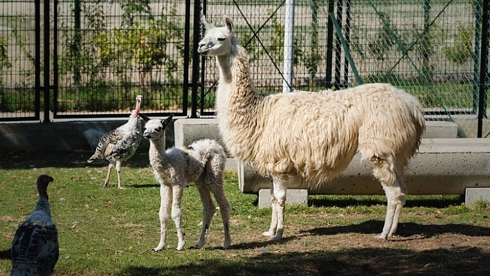
[[[272,217],[271,227],[268,232],[262,233],[271,237],[271,241],[280,241],[284,232],[284,207],[286,205],[286,185],[279,178],[273,178],[271,190]],[[275,232],[275,234],[273,234]]]

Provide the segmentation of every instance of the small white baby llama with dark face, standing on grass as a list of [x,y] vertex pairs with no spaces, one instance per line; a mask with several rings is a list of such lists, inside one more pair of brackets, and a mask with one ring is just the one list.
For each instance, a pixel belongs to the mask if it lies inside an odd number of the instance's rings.
[[145,124],[143,137],[149,140],[149,163],[153,167],[156,181],[160,183],[160,243],[154,251],[165,247],[167,219],[172,203],[174,220],[179,243],[177,250],[182,250],[184,238],[182,231],[181,200],[184,188],[188,183],[195,183],[203,203],[203,224],[201,238],[192,248],[201,248],[206,243],[208,230],[216,212],[211,194],[214,194],[221,212],[224,227],[223,249],[231,244],[230,239],[230,203],[224,194],[224,169],[226,154],[214,140],[198,140],[186,149],[172,147],[165,151],[165,128],[173,116],[165,120],[149,120]]

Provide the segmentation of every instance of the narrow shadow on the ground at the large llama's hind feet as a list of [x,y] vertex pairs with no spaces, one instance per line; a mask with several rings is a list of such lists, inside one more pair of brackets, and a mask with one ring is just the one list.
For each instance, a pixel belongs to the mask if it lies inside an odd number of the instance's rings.
[[[350,226],[313,228],[310,230],[302,231],[300,232],[300,234],[312,234],[320,236],[343,233],[379,234],[381,233],[381,229],[383,229],[383,224],[384,221],[370,220]],[[423,237],[424,239],[427,239],[430,237],[448,233],[462,234],[469,237],[490,237],[490,228],[455,223],[443,225],[399,223],[394,239],[396,239],[397,237],[417,237],[417,239]]]

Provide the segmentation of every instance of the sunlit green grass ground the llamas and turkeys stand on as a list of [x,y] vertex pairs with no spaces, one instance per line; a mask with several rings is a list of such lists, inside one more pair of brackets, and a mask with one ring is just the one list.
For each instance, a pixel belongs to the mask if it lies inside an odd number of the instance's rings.
[[[213,219],[204,248],[188,249],[199,239],[201,221],[197,190],[189,187],[183,196],[185,249],[180,252],[174,249],[176,234],[170,221],[167,248],[152,252],[159,238],[160,199],[147,155],[137,154],[123,164],[123,186],[127,189],[117,190],[115,174],[111,187],[102,188],[106,163],[87,165],[84,160],[89,154],[5,154],[2,158],[0,275],[10,270],[13,234],[37,201],[35,179],[39,174],[55,178],[48,194],[60,239],[57,275],[296,275],[298,269],[305,269],[309,275],[338,275],[345,271],[342,263],[345,258],[374,252],[383,252],[381,256],[412,252],[406,248],[410,243],[374,239],[381,232],[384,196],[309,196],[308,205],[287,208],[284,241],[267,241],[260,233],[269,227],[271,210],[259,210],[257,196],[239,191],[235,172],[226,173],[225,185],[233,206],[230,249],[220,249],[223,228],[219,215]],[[433,234],[436,237],[451,231],[465,233],[473,228],[488,230],[489,208],[480,207],[469,210],[459,196],[410,196],[401,219],[405,231],[409,231],[403,234],[402,228],[401,235],[410,237],[412,228],[424,231],[424,225],[437,225],[439,228]],[[462,223],[472,228],[458,230]],[[374,243],[371,251],[364,253],[363,246],[341,242],[356,237]],[[489,246],[488,242],[484,245]],[[260,248],[268,253],[261,254]],[[408,251],[400,253],[397,248]],[[485,256],[488,253],[482,255]],[[303,264],[314,267],[302,268]],[[356,269],[361,270],[349,271],[359,273],[363,268]],[[390,271],[388,266],[383,269],[376,271],[381,274]]]

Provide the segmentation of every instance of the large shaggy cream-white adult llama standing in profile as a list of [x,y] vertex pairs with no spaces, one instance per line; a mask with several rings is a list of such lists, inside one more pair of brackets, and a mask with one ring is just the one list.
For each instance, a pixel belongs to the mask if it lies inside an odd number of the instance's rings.
[[421,105],[390,84],[365,84],[342,91],[296,91],[260,95],[248,69],[248,54],[233,23],[217,28],[206,21],[202,55],[219,66],[216,110],[228,150],[263,176],[271,176],[272,219],[263,235],[282,239],[288,183],[318,185],[347,167],[356,151],[374,165],[388,199],[383,232],[396,230],[405,204],[403,172],[425,130]]

